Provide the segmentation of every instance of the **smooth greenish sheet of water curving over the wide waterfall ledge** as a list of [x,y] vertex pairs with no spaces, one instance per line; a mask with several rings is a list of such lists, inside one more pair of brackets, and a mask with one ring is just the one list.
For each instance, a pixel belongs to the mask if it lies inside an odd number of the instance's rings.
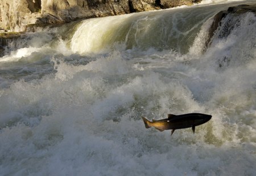
[[125,49],[187,53],[201,24],[214,14],[197,8],[194,16],[193,11],[194,8],[173,9],[85,20],[71,40],[71,49],[80,54],[108,53],[115,43],[121,43]]

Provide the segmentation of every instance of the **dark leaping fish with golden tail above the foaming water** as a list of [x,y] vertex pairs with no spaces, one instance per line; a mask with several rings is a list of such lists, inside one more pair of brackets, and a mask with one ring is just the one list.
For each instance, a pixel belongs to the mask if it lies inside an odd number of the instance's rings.
[[174,115],[168,114],[168,118],[148,121],[145,117],[142,117],[146,128],[155,127],[159,131],[171,130],[171,135],[174,131],[182,128],[192,128],[193,134],[195,134],[196,126],[202,125],[208,122],[212,118],[212,115],[201,113],[189,113]]

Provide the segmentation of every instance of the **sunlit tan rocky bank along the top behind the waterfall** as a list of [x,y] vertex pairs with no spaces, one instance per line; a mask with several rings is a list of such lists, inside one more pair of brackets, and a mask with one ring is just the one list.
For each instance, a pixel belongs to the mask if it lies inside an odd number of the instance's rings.
[[26,31],[30,24],[60,24],[81,18],[129,14],[192,5],[200,0],[0,0],[0,29]]

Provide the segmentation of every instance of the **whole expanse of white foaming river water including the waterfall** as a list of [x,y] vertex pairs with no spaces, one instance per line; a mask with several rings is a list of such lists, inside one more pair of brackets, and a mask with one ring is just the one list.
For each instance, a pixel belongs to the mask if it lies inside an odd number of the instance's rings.
[[[229,35],[219,28],[205,48],[213,15],[242,2],[220,3],[82,20],[9,44],[0,175],[255,175],[256,16],[228,15]],[[172,136],[141,120],[168,113],[212,119]]]

